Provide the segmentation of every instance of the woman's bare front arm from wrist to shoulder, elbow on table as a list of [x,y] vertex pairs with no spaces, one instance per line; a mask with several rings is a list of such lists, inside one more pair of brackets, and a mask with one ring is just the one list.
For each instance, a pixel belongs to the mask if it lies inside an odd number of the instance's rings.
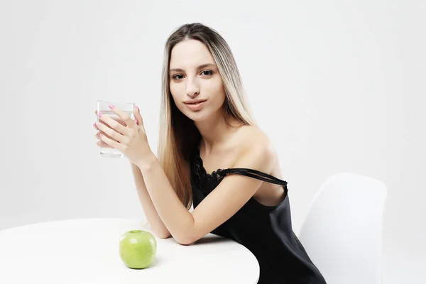
[[[273,151],[266,143],[245,151],[234,168],[271,170]],[[192,212],[188,212],[170,185],[155,155],[139,165],[151,200],[170,234],[179,244],[192,244],[231,218],[249,201],[262,180],[229,175]],[[220,208],[220,210],[218,210]]]

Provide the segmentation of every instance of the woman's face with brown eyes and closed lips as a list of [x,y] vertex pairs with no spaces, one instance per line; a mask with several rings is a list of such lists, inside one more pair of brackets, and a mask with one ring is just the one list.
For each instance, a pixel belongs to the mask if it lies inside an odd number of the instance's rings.
[[[184,40],[175,45],[169,78],[173,100],[187,117],[202,121],[220,114],[225,100],[223,82],[213,56],[203,43]],[[205,102],[189,104],[191,100]]]

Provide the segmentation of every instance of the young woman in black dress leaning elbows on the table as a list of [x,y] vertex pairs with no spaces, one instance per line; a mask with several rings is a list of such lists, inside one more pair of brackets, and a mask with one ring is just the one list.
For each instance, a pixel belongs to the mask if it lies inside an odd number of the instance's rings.
[[287,182],[225,40],[200,23],[178,28],[165,43],[162,83],[158,158],[137,107],[135,121],[111,106],[121,123],[100,116],[95,126],[98,143],[131,161],[154,234],[184,245],[210,232],[233,239],[256,256],[258,283],[325,283],[293,233]]

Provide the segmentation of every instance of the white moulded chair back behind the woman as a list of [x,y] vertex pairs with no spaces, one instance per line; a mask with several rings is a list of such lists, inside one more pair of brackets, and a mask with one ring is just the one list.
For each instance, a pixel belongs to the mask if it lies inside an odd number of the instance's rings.
[[354,173],[320,187],[297,237],[327,284],[382,283],[386,195],[383,182]]

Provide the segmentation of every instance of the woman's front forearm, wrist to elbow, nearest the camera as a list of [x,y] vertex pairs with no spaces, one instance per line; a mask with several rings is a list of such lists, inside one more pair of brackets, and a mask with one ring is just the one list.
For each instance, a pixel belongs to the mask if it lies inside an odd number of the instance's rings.
[[194,218],[184,204],[180,202],[155,155],[151,155],[138,167],[163,224],[178,243],[191,243]]

